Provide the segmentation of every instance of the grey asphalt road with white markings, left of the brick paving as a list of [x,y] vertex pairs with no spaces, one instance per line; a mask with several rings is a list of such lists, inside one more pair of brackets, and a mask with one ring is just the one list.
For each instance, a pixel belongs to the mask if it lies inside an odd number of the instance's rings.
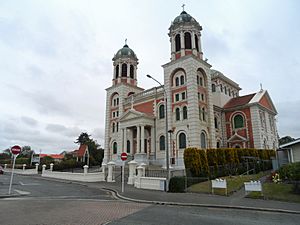
[[[7,193],[10,174],[0,176],[0,195]],[[12,192],[25,194],[27,197],[68,198],[68,199],[102,199],[113,200],[110,193],[97,188],[88,188],[68,181],[54,181],[42,177],[14,175]]]

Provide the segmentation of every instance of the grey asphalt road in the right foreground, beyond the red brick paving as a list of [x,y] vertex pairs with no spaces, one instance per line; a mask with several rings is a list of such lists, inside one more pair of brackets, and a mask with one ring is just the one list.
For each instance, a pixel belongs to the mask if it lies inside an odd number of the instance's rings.
[[109,225],[298,225],[300,215],[259,211],[151,206]]

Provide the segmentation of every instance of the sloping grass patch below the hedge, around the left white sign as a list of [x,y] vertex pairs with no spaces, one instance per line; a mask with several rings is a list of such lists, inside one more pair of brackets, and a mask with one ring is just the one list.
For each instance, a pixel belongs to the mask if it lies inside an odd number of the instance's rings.
[[[263,177],[264,175],[266,174],[261,172],[253,175],[222,177],[222,179],[226,179],[228,194],[232,194],[233,192],[241,189],[241,187],[244,186],[244,182],[250,180],[259,180],[259,178]],[[188,191],[198,193],[211,193],[211,182],[206,181],[194,184],[188,188]],[[225,195],[225,189],[215,188],[214,193],[218,195]]]

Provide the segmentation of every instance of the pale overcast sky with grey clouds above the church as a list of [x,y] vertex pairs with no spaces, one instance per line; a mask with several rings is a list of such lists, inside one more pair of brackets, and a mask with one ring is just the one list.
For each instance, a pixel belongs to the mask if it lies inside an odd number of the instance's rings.
[[185,10],[203,27],[204,57],[239,83],[260,83],[278,110],[280,136],[300,137],[300,3],[276,0],[0,1],[0,150],[74,150],[88,132],[104,145],[112,57],[128,45],[138,85],[163,80],[171,21]]

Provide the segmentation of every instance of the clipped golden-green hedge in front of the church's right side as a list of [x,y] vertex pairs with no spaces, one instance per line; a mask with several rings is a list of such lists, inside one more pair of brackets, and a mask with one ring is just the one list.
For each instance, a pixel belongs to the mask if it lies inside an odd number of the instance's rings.
[[187,176],[192,177],[218,177],[225,175],[241,174],[246,172],[244,157],[255,157],[248,160],[250,168],[255,172],[270,169],[271,157],[275,156],[274,150],[268,149],[197,149],[187,148],[184,151],[184,163]]

